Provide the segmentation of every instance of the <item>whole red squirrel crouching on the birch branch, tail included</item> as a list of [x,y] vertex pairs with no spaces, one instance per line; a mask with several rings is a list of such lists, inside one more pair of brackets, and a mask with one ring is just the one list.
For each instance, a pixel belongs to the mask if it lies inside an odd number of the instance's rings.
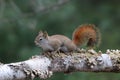
[[35,44],[44,52],[71,52],[76,51],[79,46],[87,43],[88,48],[99,45],[101,40],[100,32],[93,24],[83,24],[75,29],[72,40],[64,35],[48,36],[47,32],[40,31],[35,38]]

